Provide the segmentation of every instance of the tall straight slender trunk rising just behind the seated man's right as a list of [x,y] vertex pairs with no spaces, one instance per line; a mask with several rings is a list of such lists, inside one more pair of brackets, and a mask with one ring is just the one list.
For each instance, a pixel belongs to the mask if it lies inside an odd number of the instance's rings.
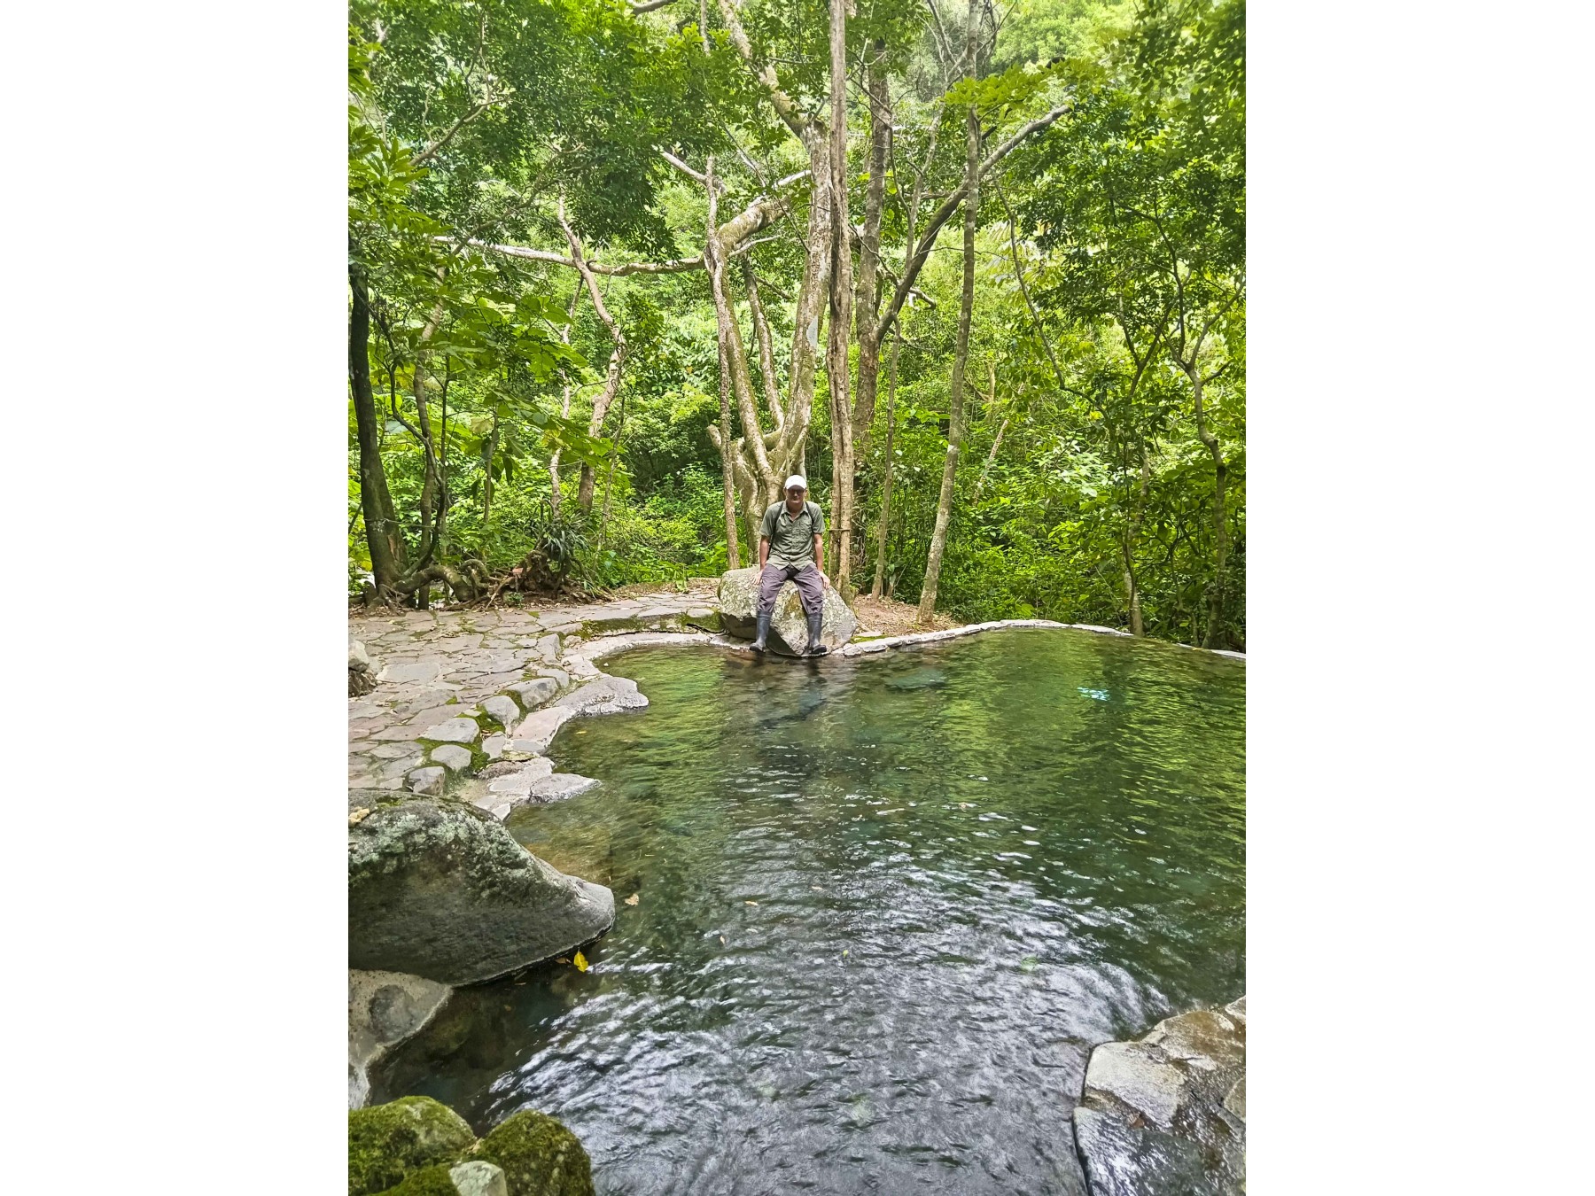
[[853,250],[847,217],[847,0],[831,0],[831,329],[825,372],[831,391],[831,579],[844,598],[853,571],[853,405],[847,346],[853,333]]

